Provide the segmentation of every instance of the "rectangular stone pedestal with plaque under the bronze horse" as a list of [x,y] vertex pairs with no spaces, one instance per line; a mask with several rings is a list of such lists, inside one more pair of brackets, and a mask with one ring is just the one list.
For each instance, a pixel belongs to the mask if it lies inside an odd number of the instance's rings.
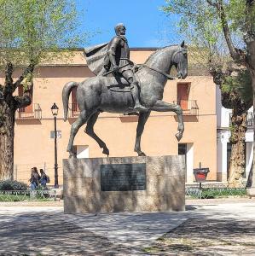
[[[135,170],[133,166],[139,168]],[[185,208],[183,155],[68,159],[63,160],[63,171],[64,212],[155,212]]]

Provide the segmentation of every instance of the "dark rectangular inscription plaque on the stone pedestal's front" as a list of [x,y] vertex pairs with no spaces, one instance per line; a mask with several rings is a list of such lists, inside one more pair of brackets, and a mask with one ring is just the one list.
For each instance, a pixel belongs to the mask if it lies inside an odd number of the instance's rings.
[[101,165],[101,191],[146,190],[146,164]]

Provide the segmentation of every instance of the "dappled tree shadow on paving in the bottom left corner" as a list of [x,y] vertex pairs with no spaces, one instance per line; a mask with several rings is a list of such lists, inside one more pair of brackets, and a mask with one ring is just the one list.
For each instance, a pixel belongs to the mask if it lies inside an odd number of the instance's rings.
[[[107,240],[77,225],[44,214],[15,215],[14,225],[1,216],[0,255],[115,255],[130,248]],[[52,223],[52,224],[51,224]]]

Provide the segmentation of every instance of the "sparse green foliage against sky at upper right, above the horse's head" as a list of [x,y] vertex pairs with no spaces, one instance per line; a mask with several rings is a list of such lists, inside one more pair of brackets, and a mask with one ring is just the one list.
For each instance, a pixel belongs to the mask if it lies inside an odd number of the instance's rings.
[[[209,2],[209,1],[208,1]],[[219,3],[219,1],[211,1]],[[243,35],[248,24],[255,27],[255,8],[250,9],[247,18],[246,0],[223,0],[223,9],[229,25],[230,36],[235,48],[245,49]],[[218,10],[206,0],[165,0],[162,8],[166,15],[180,17],[179,32],[188,38],[188,44],[208,49],[210,65],[219,63],[224,67],[229,61],[229,49],[223,34],[223,24]]]

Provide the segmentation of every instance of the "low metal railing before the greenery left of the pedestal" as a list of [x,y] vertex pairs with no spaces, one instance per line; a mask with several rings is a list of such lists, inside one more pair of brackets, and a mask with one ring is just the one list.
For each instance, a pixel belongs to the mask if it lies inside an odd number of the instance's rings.
[[0,190],[1,201],[56,201],[55,190]]

